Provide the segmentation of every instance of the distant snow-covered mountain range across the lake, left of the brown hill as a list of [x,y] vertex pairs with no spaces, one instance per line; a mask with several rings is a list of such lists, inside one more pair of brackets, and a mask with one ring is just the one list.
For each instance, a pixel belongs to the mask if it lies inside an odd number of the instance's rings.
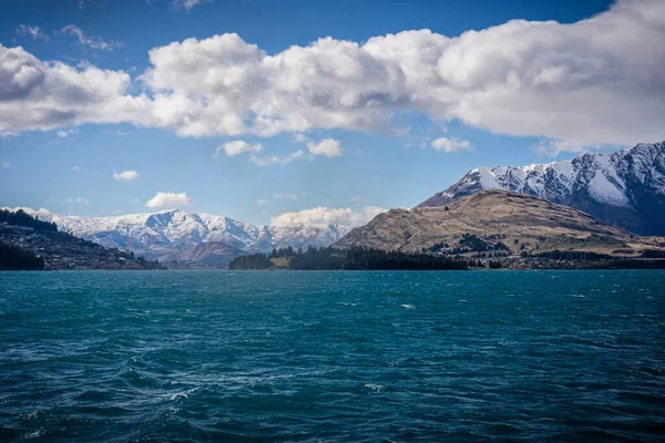
[[206,261],[207,254],[225,261],[245,253],[269,251],[273,247],[328,246],[350,230],[340,225],[257,226],[182,209],[111,217],[22,209],[40,219],[55,222],[61,230],[76,237],[160,260]]

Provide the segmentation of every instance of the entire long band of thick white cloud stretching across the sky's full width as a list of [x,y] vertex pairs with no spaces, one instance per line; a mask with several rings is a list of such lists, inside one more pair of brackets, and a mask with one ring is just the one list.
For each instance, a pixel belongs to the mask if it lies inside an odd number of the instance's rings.
[[0,47],[0,132],[130,122],[194,137],[390,133],[396,114],[415,112],[437,124],[457,119],[566,143],[665,138],[662,0],[618,0],[575,23],[511,20],[459,37],[418,30],[365,43],[324,38],[268,54],[223,34],[149,56],[143,87],[131,89],[123,71],[75,69]]

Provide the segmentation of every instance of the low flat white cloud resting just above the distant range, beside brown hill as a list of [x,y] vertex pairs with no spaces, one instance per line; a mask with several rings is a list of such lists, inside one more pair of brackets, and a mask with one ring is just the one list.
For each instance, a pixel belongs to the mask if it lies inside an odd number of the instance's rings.
[[366,206],[362,210],[356,212],[351,208],[327,208],[318,206],[311,209],[304,209],[297,213],[285,213],[270,219],[274,226],[297,226],[297,225],[342,225],[358,226],[371,220],[377,215],[385,213],[386,209],[377,206]]

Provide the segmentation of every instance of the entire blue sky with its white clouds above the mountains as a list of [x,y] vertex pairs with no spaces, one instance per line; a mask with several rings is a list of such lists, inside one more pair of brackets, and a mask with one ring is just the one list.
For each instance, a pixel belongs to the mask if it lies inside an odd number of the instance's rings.
[[665,138],[662,0],[3,0],[0,206],[359,224]]

